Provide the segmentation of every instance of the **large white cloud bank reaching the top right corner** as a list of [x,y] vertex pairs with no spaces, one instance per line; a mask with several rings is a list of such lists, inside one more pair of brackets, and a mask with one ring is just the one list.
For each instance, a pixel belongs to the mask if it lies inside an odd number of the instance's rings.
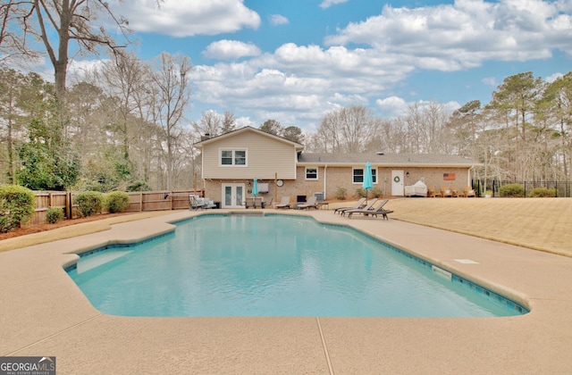
[[569,2],[457,0],[419,8],[383,7],[326,37],[328,46],[368,45],[416,68],[458,71],[486,60],[526,61],[572,50]]

